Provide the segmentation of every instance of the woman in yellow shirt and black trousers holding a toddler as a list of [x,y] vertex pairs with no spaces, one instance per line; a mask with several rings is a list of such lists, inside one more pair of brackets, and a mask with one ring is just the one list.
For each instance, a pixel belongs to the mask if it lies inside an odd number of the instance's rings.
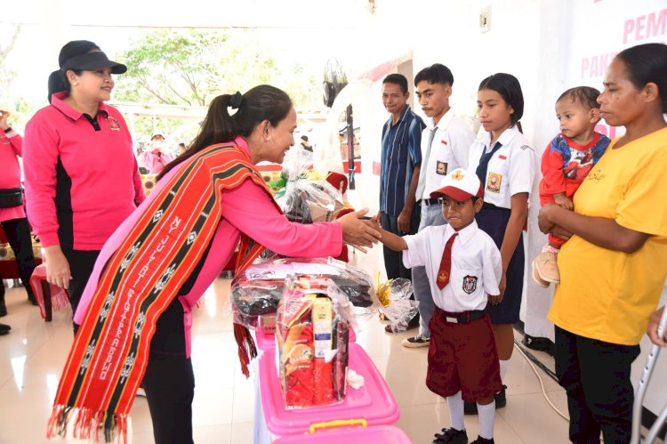
[[549,204],[540,230],[568,239],[549,319],[567,391],[570,440],[629,442],[631,363],[667,277],[667,45],[619,52],[599,95],[608,125],[625,126],[575,194]]

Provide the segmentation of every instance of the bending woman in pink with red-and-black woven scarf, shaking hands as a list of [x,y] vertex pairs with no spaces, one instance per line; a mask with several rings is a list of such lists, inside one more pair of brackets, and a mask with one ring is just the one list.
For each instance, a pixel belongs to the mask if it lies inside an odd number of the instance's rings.
[[[229,108],[236,113],[229,116]],[[237,271],[265,246],[317,257],[340,254],[343,243],[365,251],[376,242],[380,234],[358,219],[366,209],[310,225],[281,214],[254,165],[282,162],[295,128],[292,101],[272,86],[213,100],[196,140],[165,167],[156,190],[100,253],[76,312],[81,327],[60,379],[50,436],[72,419],[83,425],[75,428],[79,437],[100,422],[107,439],[115,428],[125,433],[141,382],[156,442],[192,442],[190,310],[239,242]],[[239,348],[247,372],[252,339],[241,326],[235,335],[248,346]]]

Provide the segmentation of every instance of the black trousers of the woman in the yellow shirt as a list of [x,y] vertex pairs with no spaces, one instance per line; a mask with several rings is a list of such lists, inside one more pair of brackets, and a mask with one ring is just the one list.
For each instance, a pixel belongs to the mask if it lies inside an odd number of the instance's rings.
[[556,327],[556,375],[567,392],[570,440],[627,444],[632,428],[632,361],[639,345],[619,345]]

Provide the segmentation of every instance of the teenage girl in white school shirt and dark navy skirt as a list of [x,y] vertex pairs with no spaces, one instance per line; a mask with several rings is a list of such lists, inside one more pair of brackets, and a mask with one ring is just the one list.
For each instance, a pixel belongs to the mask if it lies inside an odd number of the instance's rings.
[[[504,379],[514,346],[512,324],[518,322],[524,284],[524,244],[521,231],[528,215],[528,197],[535,179],[537,156],[521,133],[524,98],[516,77],[498,73],[486,77],[478,88],[482,133],[470,147],[469,170],[484,184],[484,206],[478,226],[494,238],[502,256],[502,302],[487,310]],[[505,405],[505,390],[495,397],[496,408]],[[466,409],[474,413],[475,405]]]

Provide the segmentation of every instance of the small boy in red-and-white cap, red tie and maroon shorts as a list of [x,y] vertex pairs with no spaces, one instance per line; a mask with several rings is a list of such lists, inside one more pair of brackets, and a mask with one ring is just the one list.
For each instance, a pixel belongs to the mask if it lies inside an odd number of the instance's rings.
[[446,397],[451,427],[436,433],[434,444],[468,443],[464,400],[478,405],[479,436],[473,443],[494,442],[494,394],[502,382],[485,309],[487,302],[502,300],[498,287],[502,259],[494,240],[475,222],[483,193],[477,174],[456,169],[430,194],[442,198],[446,225],[427,227],[403,238],[381,231],[385,246],[403,251],[406,267],[425,268],[436,305],[430,319],[426,385]]

